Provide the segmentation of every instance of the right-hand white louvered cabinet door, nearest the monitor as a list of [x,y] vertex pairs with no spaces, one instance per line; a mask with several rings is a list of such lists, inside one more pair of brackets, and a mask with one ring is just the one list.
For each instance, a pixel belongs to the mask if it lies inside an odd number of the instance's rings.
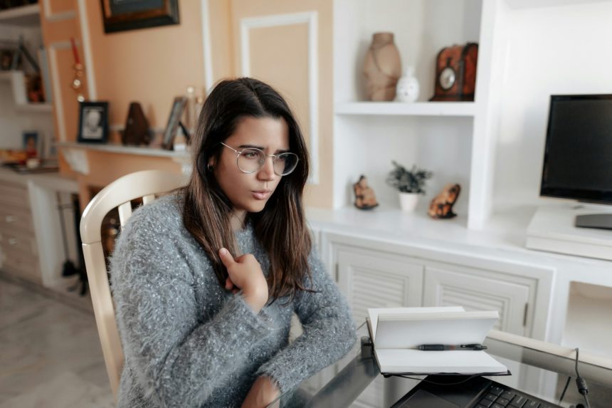
[[498,310],[494,328],[529,335],[526,325],[529,283],[520,276],[455,265],[425,268],[423,305],[463,306],[465,310]]

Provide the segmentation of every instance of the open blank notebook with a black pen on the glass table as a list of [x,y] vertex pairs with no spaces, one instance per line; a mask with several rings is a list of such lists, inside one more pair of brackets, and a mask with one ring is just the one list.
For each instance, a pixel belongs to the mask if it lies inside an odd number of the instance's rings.
[[484,350],[416,350],[418,345],[482,343],[499,313],[461,307],[368,309],[374,355],[383,374],[508,375]]

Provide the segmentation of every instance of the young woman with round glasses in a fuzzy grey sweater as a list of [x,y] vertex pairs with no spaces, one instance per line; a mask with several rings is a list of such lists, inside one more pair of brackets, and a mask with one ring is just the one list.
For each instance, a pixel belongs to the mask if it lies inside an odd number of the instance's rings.
[[304,138],[273,88],[240,78],[211,92],[191,147],[187,187],[134,211],[112,256],[119,407],[265,407],[355,340],[307,231]]

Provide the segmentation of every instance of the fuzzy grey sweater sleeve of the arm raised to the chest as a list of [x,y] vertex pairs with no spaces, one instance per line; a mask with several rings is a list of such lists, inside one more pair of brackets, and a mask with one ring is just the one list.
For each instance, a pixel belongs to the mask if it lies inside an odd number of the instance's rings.
[[189,243],[172,227],[179,221],[155,217],[134,212],[112,256],[125,359],[139,387],[161,407],[200,407],[214,389],[231,382],[230,373],[246,364],[248,352],[272,325],[241,295],[204,322],[194,274],[182,253]]

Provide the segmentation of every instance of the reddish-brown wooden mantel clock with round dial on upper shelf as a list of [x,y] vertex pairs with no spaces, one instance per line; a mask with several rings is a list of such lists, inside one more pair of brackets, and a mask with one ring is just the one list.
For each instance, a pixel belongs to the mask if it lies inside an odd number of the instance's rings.
[[478,43],[442,48],[436,61],[436,90],[430,100],[474,100]]

